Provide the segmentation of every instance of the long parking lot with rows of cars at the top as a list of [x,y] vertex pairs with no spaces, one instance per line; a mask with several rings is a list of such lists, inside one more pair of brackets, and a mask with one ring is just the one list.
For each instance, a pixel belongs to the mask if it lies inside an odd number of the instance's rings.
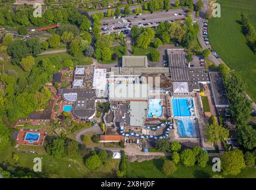
[[118,30],[130,30],[132,26],[158,26],[164,21],[184,20],[186,9],[171,9],[162,12],[143,13],[141,15],[127,15],[118,18],[104,18],[101,20],[101,33],[112,33]]

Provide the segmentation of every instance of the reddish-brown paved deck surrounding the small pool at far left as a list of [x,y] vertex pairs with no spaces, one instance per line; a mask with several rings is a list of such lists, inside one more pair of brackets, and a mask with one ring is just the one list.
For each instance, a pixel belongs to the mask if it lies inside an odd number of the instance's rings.
[[[39,133],[40,137],[38,141],[34,141],[33,143],[29,143],[29,141],[26,141],[26,134],[27,133]],[[18,132],[18,137],[16,139],[17,144],[21,145],[42,145],[44,143],[44,139],[46,136],[46,132],[42,130],[29,130],[29,129],[20,129]]]

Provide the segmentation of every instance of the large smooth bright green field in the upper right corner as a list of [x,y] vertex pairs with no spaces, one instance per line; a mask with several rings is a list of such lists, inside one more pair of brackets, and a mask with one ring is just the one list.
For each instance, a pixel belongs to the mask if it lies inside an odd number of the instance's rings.
[[221,18],[209,20],[209,41],[223,61],[242,77],[247,93],[256,102],[256,55],[246,44],[239,24],[241,12],[249,15],[256,27],[256,1],[220,0]]

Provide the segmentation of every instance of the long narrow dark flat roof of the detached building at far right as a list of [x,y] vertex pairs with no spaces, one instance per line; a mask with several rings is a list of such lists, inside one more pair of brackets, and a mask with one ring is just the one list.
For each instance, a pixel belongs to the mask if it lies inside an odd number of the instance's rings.
[[228,107],[229,99],[227,98],[223,77],[221,72],[209,72],[211,87],[214,95],[215,106]]

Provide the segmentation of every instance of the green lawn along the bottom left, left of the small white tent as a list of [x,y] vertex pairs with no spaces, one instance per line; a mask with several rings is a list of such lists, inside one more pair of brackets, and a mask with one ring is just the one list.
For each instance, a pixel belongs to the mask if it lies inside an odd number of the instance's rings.
[[[0,163],[8,162],[12,166],[14,160],[12,159],[13,153],[18,153],[20,159],[18,160],[18,166],[27,167],[30,170],[33,169],[33,159],[35,157],[41,157],[42,159],[42,172],[49,175],[51,178],[114,178],[116,170],[119,167],[119,160],[113,160],[109,157],[106,160],[106,164],[101,164],[98,169],[89,170],[85,164],[83,156],[77,157],[63,157],[61,159],[55,159],[52,156],[45,154],[44,147],[34,146],[21,146],[20,151],[17,151],[11,144],[4,147],[4,150],[0,151]],[[40,150],[41,149],[41,150]],[[21,151],[32,150],[39,154],[24,154]],[[88,151],[85,151],[88,154]],[[84,151],[83,151],[84,153]],[[83,154],[82,153],[82,154]],[[68,167],[69,164],[71,167]]]

